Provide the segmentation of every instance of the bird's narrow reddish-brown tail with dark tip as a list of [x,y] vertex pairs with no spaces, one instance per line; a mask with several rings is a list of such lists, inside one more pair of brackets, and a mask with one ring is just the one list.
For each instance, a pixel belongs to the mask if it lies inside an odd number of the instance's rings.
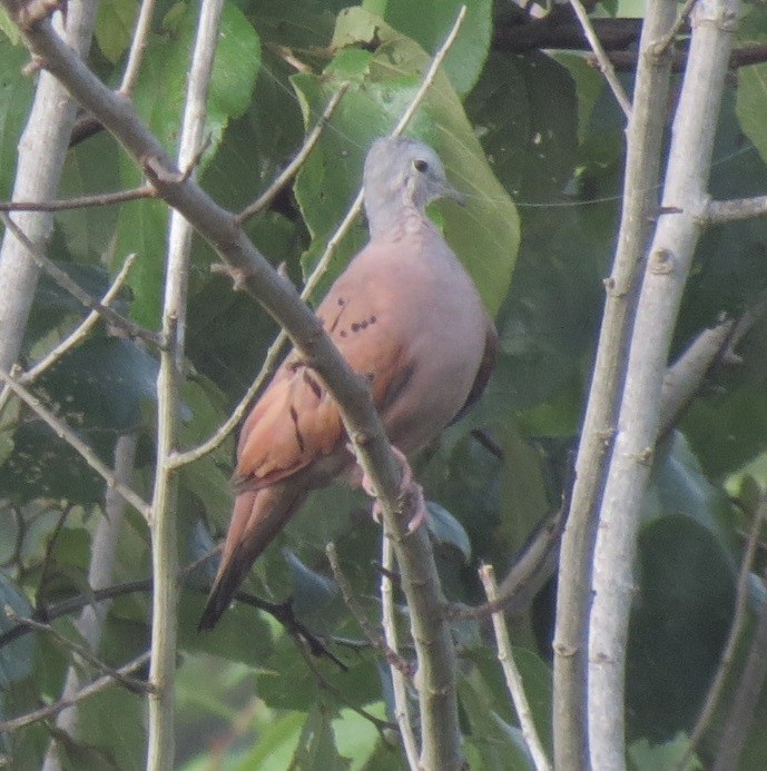
[[277,484],[237,495],[218,573],[199,620],[200,631],[218,623],[253,563],[301,506],[305,492],[291,487]]

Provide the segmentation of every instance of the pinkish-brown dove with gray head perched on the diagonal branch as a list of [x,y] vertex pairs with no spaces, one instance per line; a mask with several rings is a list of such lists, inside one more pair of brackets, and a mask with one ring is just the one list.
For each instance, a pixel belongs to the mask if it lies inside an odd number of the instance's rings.
[[[482,393],[496,333],[472,279],[425,215],[432,200],[461,200],[434,150],[414,139],[378,139],[365,160],[364,187],[371,240],[317,316],[350,366],[368,378],[390,441],[410,455]],[[299,356],[288,355],[243,426],[237,498],[199,627],[218,622],[307,493],[361,478],[331,394]]]

